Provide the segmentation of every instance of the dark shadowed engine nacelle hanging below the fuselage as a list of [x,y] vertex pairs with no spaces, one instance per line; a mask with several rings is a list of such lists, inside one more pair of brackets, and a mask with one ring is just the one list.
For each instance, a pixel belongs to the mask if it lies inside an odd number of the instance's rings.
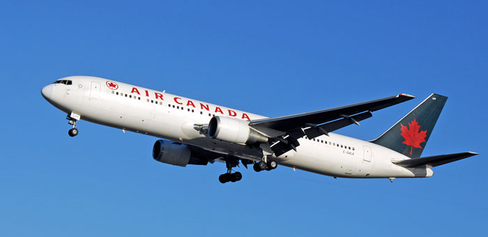
[[158,140],[153,146],[153,158],[169,165],[207,165],[208,160],[192,155],[192,151],[185,144],[167,140]]

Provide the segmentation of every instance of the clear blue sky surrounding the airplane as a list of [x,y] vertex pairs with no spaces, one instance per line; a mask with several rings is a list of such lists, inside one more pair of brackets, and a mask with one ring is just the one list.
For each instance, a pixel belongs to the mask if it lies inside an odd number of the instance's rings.
[[[3,1],[0,236],[484,236],[485,1]],[[82,121],[40,89],[93,75],[281,116],[397,93],[417,99],[337,133],[374,139],[449,96],[423,155],[480,155],[432,178],[334,179],[278,167],[222,185],[155,137]]]

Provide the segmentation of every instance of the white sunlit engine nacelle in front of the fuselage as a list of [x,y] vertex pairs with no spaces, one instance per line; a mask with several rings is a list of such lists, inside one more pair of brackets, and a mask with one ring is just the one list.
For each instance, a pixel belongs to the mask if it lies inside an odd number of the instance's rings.
[[268,142],[268,137],[249,127],[249,122],[215,116],[208,123],[208,136],[225,142],[252,144]]

